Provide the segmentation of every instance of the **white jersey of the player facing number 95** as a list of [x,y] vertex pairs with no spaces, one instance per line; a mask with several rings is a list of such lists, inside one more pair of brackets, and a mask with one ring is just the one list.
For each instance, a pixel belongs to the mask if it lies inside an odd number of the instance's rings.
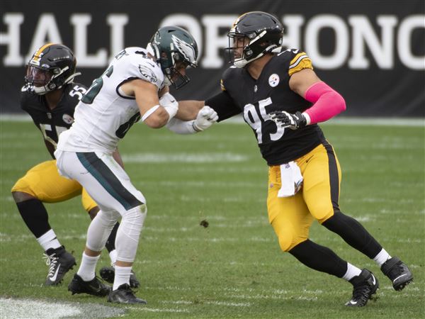
[[134,96],[120,86],[143,79],[164,87],[161,67],[142,47],[127,47],[115,55],[108,69],[95,79],[75,108],[72,127],[60,135],[57,150],[72,152],[113,152],[132,124],[140,120]]

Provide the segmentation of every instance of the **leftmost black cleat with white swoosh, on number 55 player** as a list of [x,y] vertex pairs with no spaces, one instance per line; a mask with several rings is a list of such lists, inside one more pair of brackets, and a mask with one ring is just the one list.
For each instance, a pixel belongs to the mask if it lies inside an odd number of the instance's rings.
[[55,286],[59,284],[65,274],[77,264],[74,256],[67,252],[64,246],[46,250],[43,258],[46,259],[46,264],[49,266],[49,273],[47,274],[45,286]]

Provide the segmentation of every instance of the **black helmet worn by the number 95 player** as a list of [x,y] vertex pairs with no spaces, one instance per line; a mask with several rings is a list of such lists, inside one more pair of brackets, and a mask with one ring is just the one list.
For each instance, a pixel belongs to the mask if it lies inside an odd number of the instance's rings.
[[[229,47],[229,61],[236,67],[244,67],[266,52],[282,45],[283,26],[276,16],[261,11],[252,11],[242,14],[234,21],[232,28],[227,33]],[[235,57],[234,38],[244,37],[242,56]]]

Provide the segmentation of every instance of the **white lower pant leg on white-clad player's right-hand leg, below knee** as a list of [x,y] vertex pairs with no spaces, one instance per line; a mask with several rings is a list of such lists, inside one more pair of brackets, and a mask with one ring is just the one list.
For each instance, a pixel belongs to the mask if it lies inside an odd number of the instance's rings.
[[120,227],[115,238],[115,250],[117,260],[122,262],[134,262],[137,245],[139,245],[140,232],[147,214],[146,204],[130,209],[122,214]]

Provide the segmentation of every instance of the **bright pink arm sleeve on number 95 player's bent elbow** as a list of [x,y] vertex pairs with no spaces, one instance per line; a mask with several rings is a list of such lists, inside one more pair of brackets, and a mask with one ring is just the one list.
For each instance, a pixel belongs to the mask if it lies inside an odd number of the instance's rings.
[[305,91],[305,99],[314,103],[304,113],[310,116],[310,123],[324,122],[346,109],[344,98],[324,82],[317,82]]

